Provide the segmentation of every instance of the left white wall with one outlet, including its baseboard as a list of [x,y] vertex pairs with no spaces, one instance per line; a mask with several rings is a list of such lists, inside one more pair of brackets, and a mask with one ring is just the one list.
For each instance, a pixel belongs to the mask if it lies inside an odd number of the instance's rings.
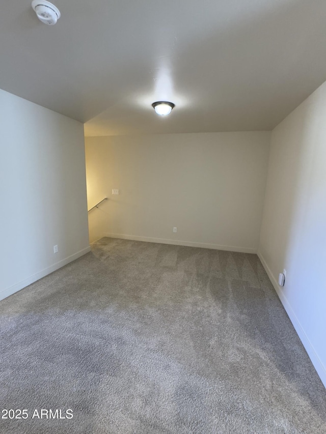
[[83,124],[0,90],[0,134],[2,299],[89,240]]

